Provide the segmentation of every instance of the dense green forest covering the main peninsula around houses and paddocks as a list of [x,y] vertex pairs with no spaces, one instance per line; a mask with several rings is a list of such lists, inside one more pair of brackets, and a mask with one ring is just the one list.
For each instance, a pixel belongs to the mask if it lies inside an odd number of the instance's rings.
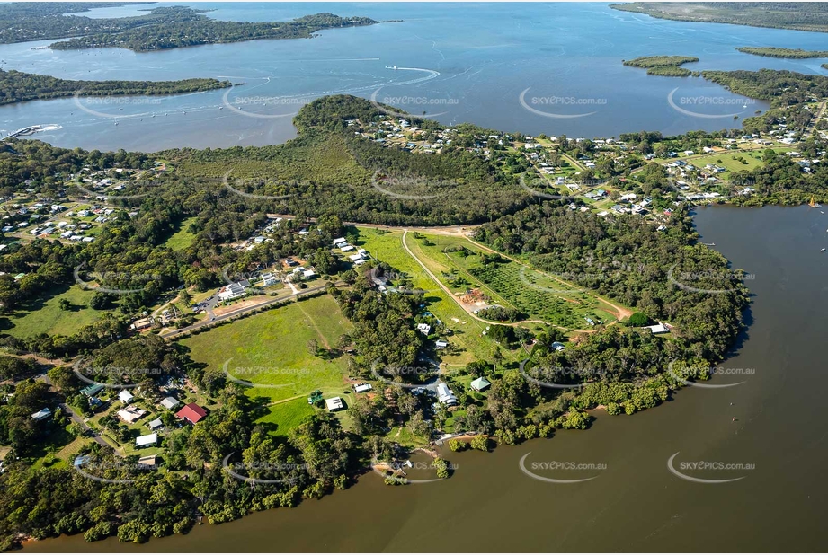
[[[761,94],[774,104],[769,114],[745,122],[757,128],[787,114],[779,110],[828,94],[828,80],[823,77],[764,71],[707,73],[706,77],[735,92]],[[800,121],[794,113],[785,117],[800,125],[806,119],[802,116]],[[110,480],[136,481],[88,480],[71,468],[35,467],[15,458],[31,455],[45,436],[67,431],[70,425],[62,403],[88,408],[83,399],[62,397],[62,391],[77,390],[76,374],[68,364],[54,366],[48,375],[58,391],[50,390],[45,383],[30,380],[40,372],[36,362],[0,357],[0,374],[17,382],[13,397],[0,406],[0,443],[13,449],[12,458],[7,458],[8,470],[0,475],[0,548],[8,549],[25,536],[45,538],[60,533],[83,533],[89,541],[117,536],[123,542],[143,542],[185,533],[200,515],[218,524],[251,511],[293,507],[303,499],[346,488],[372,461],[393,458],[396,446],[383,437],[389,422],[398,422],[419,436],[440,429],[448,418],[440,406],[433,408],[431,401],[409,389],[391,387],[386,394],[352,403],[348,409],[351,431],[343,430],[337,418],[318,412],[289,433],[280,433],[272,425],[257,424],[263,416],[261,405],[236,383],[227,383],[217,368],[193,363],[182,345],[152,335],[129,337],[129,322],[168,290],[183,284],[207,291],[223,283],[223,269],[242,272],[277,258],[298,256],[324,276],[337,274],[344,283],[331,283],[326,292],[353,324],[337,345],[352,348],[349,374],[371,379],[376,377],[373,372],[378,364],[384,379],[404,381],[409,376],[395,374],[395,368],[417,366],[423,357],[433,355],[429,345],[434,337],[423,339],[415,325],[429,323],[441,330],[441,322],[423,312],[427,308],[423,295],[381,295],[367,273],[340,271],[329,245],[334,237],[347,233],[346,222],[483,223],[476,240],[539,269],[574,276],[578,285],[637,311],[623,322],[599,323],[590,333],[577,333],[563,351],[554,348],[556,341],[565,339],[561,330],[492,324],[491,339],[503,348],[525,348],[529,360],[522,366],[505,364],[498,346],[488,359],[459,369],[459,374],[489,379],[492,386],[485,396],[446,376],[462,409],[453,425],[458,431],[481,432],[501,443],[516,444],[551,436],[556,429],[583,429],[590,423],[584,410],[598,405],[611,414],[632,414],[669,399],[681,388],[681,380],[665,372],[671,362],[676,362],[674,370],[681,378],[706,379],[708,369],[733,347],[748,304],[741,272],[729,268],[716,251],[697,244],[687,208],[672,205],[676,192],[661,164],[638,157],[635,173],[629,165],[611,170],[613,180],[625,179],[626,189],[651,196],[654,206],[672,207],[664,214],[665,227],[659,229],[645,218],[604,218],[559,201],[531,197],[515,182],[515,175],[527,170],[525,157],[498,151],[496,142],[478,140],[490,134],[485,129],[457,126],[463,137],[440,154],[425,155],[356,137],[351,128],[354,120],[369,127],[385,119],[384,112],[369,101],[332,96],[299,112],[295,120],[299,137],[285,145],[175,149],[153,155],[67,150],[31,140],[10,140],[0,146],[0,195],[4,197],[23,192],[31,198],[56,200],[76,196],[74,180],[86,167],[90,171],[114,167],[148,171],[160,158],[174,168],[159,174],[156,183],[130,183],[126,192],[149,194],[114,200],[114,217],[102,225],[95,242],[62,244],[35,239],[14,242],[4,251],[0,257],[4,272],[0,276],[0,323],[7,324],[4,316],[25,308],[50,287],[71,284],[73,271],[88,279],[97,276],[104,286],[130,293],[117,299],[95,294],[90,305],[101,310],[101,318],[74,334],[24,339],[2,334],[0,348],[67,361],[84,357],[90,375],[108,383],[138,384],[155,401],[152,396],[158,382],[186,376],[218,406],[198,426],[170,426],[160,471],[140,467],[137,457],[120,458],[98,444],[91,445],[87,453],[90,471]],[[411,118],[411,122],[426,133],[438,126],[423,119]],[[640,153],[661,149],[663,154],[667,149],[716,145],[722,137],[741,132],[699,131],[679,137],[640,132],[619,138]],[[560,137],[560,145],[561,152],[574,157],[590,154],[595,147],[592,141],[566,137]],[[483,147],[494,155],[474,152]],[[810,138],[797,148],[813,157],[820,149]],[[756,195],[733,202],[802,202],[825,190],[828,165],[819,164],[806,173],[789,157],[770,149],[762,156],[764,165],[735,175],[735,179],[755,183]],[[228,189],[222,179],[227,172],[232,172],[236,190],[259,198]],[[405,191],[406,183],[414,183],[441,198],[426,201],[388,195],[378,190],[378,179],[385,189]],[[266,195],[279,198],[262,198]],[[272,212],[298,218],[283,222],[270,235],[272,241],[252,250],[235,250],[228,244],[257,233]],[[9,216],[12,223],[22,217]],[[185,220],[190,222],[187,231],[192,241],[173,251],[165,241]],[[303,227],[319,233],[298,235]],[[504,262],[491,257],[486,263]],[[79,267],[82,270],[76,270]],[[15,280],[16,273],[26,276]],[[134,278],[150,274],[154,278],[149,281]],[[723,293],[694,292],[677,286],[671,276]],[[520,316],[505,309],[485,315],[503,322]],[[654,322],[671,324],[671,333],[655,336],[641,329]],[[159,368],[162,372],[145,376],[94,370],[102,367]],[[81,371],[86,372],[87,366]],[[557,389],[541,383],[585,384]],[[35,426],[31,414],[44,405],[58,410],[48,424]],[[114,418],[101,424],[115,436],[128,433]],[[81,429],[72,429],[83,434]],[[484,442],[482,448],[487,445]],[[284,481],[251,488],[223,471],[228,456],[252,477]]]

